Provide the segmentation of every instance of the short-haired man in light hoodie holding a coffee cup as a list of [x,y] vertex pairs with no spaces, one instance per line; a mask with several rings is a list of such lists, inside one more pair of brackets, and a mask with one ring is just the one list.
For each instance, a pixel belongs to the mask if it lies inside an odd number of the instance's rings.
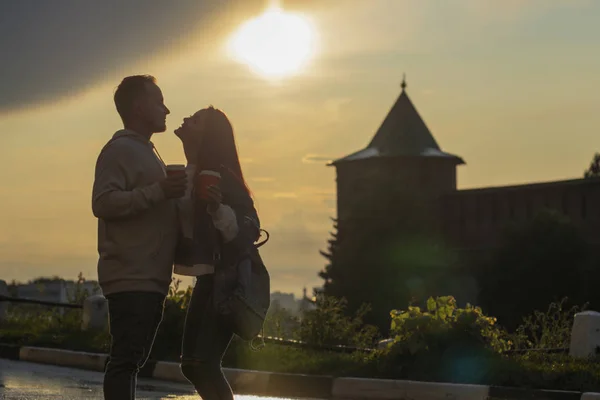
[[170,113],[156,80],[129,76],[114,101],[124,129],[98,156],[92,209],[111,333],[104,398],[130,400],[162,320],[178,236],[177,199],[186,193],[187,178],[167,176],[150,141],[166,130]]

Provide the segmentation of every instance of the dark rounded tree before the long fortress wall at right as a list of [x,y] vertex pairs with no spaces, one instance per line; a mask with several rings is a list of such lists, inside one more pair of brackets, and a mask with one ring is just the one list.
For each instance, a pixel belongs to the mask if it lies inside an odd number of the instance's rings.
[[587,301],[588,245],[569,218],[553,210],[507,229],[489,269],[480,271],[483,308],[514,329],[522,318],[568,297]]

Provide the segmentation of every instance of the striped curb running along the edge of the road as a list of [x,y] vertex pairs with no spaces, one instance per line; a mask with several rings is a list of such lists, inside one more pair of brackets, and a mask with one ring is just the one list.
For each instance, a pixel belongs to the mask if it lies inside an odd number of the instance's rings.
[[[103,372],[108,356],[0,343],[0,358]],[[344,400],[600,400],[600,393],[528,390],[485,385],[390,379],[334,378],[223,368],[236,394]],[[188,383],[178,363],[148,361],[140,376]]]

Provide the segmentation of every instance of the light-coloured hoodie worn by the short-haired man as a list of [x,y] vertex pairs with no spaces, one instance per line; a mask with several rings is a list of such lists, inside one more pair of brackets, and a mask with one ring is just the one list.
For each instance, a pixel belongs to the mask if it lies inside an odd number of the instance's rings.
[[[188,186],[193,169],[186,167]],[[98,218],[98,282],[104,295],[167,294],[180,225],[178,200],[166,199],[158,183],[164,177],[152,142],[131,130],[116,132],[98,156],[92,210]]]

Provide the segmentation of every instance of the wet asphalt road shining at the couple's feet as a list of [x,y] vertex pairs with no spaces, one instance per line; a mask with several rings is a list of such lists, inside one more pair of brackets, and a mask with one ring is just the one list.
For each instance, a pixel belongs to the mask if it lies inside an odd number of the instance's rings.
[[[139,400],[199,400],[190,385],[138,379]],[[236,396],[236,400],[274,400],[269,397]],[[103,400],[102,374],[71,368],[0,359],[0,399],[94,399]]]

